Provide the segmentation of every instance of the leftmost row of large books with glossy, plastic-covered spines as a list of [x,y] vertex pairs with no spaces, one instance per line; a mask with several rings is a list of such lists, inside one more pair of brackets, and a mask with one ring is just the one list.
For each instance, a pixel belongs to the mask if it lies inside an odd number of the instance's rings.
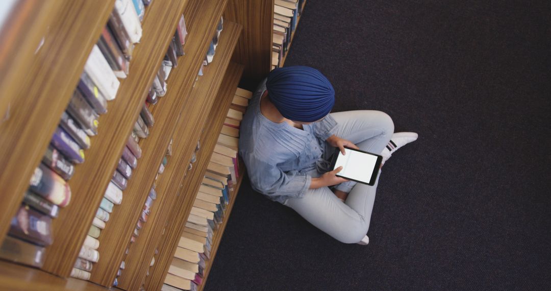
[[143,3],[134,7],[131,0],[116,1],[109,23],[90,52],[51,144],[12,219],[1,257],[35,267],[44,265],[45,246],[53,243],[52,218],[71,201],[67,181],[74,174],[75,164],[84,163],[90,137],[98,134],[99,116],[107,112],[107,101],[116,97],[120,85],[117,78],[128,74],[133,45],[141,38],[138,11],[143,13],[143,7]]

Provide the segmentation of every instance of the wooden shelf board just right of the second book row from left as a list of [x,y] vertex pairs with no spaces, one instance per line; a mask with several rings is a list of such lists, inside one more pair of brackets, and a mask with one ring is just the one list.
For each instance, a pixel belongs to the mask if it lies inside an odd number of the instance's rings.
[[[155,3],[152,2],[152,6]],[[166,2],[158,3],[166,5]],[[134,226],[142,211],[145,198],[153,184],[161,159],[163,159],[165,150],[169,145],[170,138],[176,129],[176,120],[183,110],[183,105],[190,98],[193,80],[195,80],[201,61],[206,55],[207,46],[210,40],[212,40],[212,35],[209,35],[206,31],[202,31],[202,29],[214,28],[222,15],[225,4],[225,0],[190,0],[186,9],[184,9],[186,21],[190,21],[186,23],[190,26],[184,46],[186,55],[180,58],[181,61],[179,61],[174,74],[171,73],[166,95],[161,97],[159,103],[152,110],[155,117],[155,125],[150,130],[149,137],[142,139],[140,142],[143,152],[142,158],[138,160],[138,167],[134,170],[124,191],[124,193],[129,194],[126,194],[123,197],[123,203],[114,209],[106,228],[101,233],[99,238],[101,258],[95,264],[90,279],[94,283],[108,286],[115,279],[118,266],[121,263]],[[176,11],[174,9],[175,5],[166,5],[170,12],[158,15],[163,15],[163,19],[167,19],[168,15],[181,13],[181,10]],[[202,15],[203,17],[188,17],[189,15]],[[147,17],[149,16],[147,15]],[[172,31],[170,35],[172,35],[176,28],[176,22],[176,19],[171,20],[170,23],[173,23],[174,26],[172,28],[160,28],[160,31],[166,32],[170,30]],[[166,46],[164,47],[164,51],[166,52]],[[160,60],[158,61],[159,64]]]

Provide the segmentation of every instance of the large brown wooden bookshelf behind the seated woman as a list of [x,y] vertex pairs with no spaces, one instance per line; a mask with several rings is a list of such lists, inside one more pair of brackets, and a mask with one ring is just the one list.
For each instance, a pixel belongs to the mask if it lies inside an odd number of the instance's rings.
[[[2,240],[114,3],[20,0],[8,26],[0,31],[0,41],[7,44],[0,48],[0,166],[5,169],[0,186],[10,193],[0,197]],[[261,80],[270,71],[273,4],[273,0],[165,0],[146,7],[142,39],[132,53],[128,77],[120,79],[117,98],[109,101],[108,112],[100,116],[98,135],[91,137],[85,162],[75,165],[69,180],[71,203],[52,220],[54,241],[46,248],[44,267],[37,270],[0,260],[4,288],[115,289],[111,285],[153,182],[158,198],[129,247],[117,287],[137,290],[145,284],[147,290],[161,288],[237,84],[242,78]],[[143,154],[123,191],[122,204],[115,206],[101,231],[100,260],[94,264],[90,281],[69,278],[182,13],[188,31],[185,55],[170,73],[166,95],[150,107],[155,124],[149,137],[139,143]],[[214,61],[203,68],[204,75],[196,82],[222,15],[224,29]],[[36,50],[42,37],[44,44]],[[155,180],[171,139],[172,156]],[[198,140],[202,147],[197,162],[187,171]],[[217,230],[206,276],[243,171]],[[155,249],[159,254],[150,268]]]

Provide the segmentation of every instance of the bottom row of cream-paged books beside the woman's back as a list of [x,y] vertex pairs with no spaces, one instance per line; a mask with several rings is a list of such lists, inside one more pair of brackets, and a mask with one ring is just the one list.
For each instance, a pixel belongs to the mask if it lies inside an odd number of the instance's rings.
[[207,165],[162,290],[197,290],[203,282],[213,238],[224,222],[230,192],[239,179],[239,123],[252,93],[238,88]]

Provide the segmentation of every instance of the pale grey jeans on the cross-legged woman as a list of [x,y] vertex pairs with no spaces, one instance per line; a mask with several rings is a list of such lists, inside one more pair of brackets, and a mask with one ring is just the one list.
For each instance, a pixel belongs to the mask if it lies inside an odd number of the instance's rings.
[[[331,116],[338,124],[336,136],[348,139],[366,152],[380,154],[394,133],[392,119],[380,111],[345,111]],[[327,144],[325,152],[329,150],[332,152],[333,148]],[[321,175],[316,170],[309,174],[312,177]],[[302,198],[289,198],[283,204],[334,239],[347,244],[358,243],[368,233],[378,184],[379,177],[374,186],[353,181],[338,185],[338,190],[349,192],[345,203],[329,187],[321,187],[308,190]]]

